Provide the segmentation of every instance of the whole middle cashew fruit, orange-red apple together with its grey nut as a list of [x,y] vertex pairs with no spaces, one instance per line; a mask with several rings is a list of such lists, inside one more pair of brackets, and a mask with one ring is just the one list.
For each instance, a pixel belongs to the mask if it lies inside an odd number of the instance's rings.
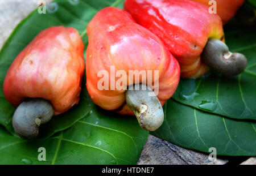
[[[135,23],[131,15],[121,8],[107,7],[99,11],[88,24],[87,32],[86,87],[92,101],[106,110],[135,114],[142,128],[156,130],[163,121],[163,113],[159,111],[161,105],[174,94],[179,83],[179,63],[156,35]],[[139,75],[135,79],[129,71],[136,70],[152,74]],[[108,74],[104,89],[99,88],[101,71]],[[155,71],[158,76],[154,75]],[[127,78],[120,84],[122,89],[111,87],[119,85],[121,78]],[[152,83],[148,84],[149,80]],[[136,85],[139,88],[147,85],[147,90],[127,90],[127,87],[133,88]],[[156,89],[157,97],[147,96],[148,92],[154,90],[155,93]],[[161,115],[155,117],[158,111]],[[155,120],[158,121],[157,125],[153,124]]]

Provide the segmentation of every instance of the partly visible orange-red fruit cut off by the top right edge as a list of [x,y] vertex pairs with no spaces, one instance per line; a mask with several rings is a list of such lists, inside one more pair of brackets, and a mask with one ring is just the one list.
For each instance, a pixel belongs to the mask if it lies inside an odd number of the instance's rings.
[[[209,0],[191,0],[198,3],[201,3],[205,6],[212,6],[209,5]],[[216,1],[216,9],[217,14],[220,16],[222,23],[225,25],[229,22],[230,19],[236,14],[239,7],[243,5],[245,0],[214,0]]]

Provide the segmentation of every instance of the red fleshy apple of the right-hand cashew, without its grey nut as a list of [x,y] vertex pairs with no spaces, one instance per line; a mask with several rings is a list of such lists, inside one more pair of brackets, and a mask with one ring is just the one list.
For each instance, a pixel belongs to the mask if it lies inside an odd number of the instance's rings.
[[180,63],[181,76],[199,78],[209,68],[201,61],[208,38],[224,41],[222,22],[208,7],[187,0],[126,0],[125,10],[155,33]]

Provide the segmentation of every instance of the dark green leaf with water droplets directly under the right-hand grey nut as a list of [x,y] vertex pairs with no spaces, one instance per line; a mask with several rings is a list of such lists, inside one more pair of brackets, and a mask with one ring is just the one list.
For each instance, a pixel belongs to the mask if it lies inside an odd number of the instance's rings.
[[226,44],[247,58],[246,70],[234,77],[211,73],[200,79],[181,79],[173,98],[182,104],[234,119],[256,120],[256,33],[228,28]]

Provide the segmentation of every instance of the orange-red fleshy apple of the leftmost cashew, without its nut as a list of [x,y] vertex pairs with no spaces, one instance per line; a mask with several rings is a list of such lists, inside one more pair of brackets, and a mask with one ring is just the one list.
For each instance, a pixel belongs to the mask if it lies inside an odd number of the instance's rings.
[[44,98],[61,114],[79,102],[84,74],[84,44],[75,28],[40,32],[14,59],[3,92],[17,107],[26,98]]

